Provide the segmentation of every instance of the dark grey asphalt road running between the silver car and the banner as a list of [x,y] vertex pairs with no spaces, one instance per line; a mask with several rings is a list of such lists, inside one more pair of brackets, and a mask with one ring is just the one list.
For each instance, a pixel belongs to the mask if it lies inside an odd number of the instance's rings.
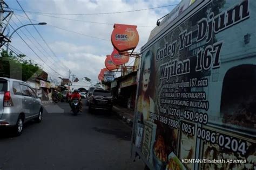
[[89,114],[85,104],[78,116],[67,103],[45,105],[43,121],[25,124],[21,136],[0,134],[0,170],[144,169],[130,159],[131,128],[104,111]]

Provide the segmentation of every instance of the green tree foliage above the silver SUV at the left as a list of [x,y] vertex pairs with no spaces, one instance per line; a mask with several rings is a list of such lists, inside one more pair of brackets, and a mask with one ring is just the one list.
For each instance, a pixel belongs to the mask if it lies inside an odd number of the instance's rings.
[[14,55],[2,49],[0,57],[0,76],[26,81],[33,75],[41,74],[42,69],[31,60],[24,59],[25,55]]

